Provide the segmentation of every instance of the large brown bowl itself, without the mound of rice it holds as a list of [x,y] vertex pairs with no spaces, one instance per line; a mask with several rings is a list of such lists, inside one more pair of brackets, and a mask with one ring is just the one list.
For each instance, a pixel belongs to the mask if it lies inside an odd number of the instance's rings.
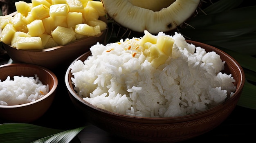
[[[65,75],[65,84],[74,106],[76,106],[81,114],[84,114],[85,118],[92,124],[109,133],[131,141],[155,143],[178,142],[191,139],[216,128],[229,116],[238,102],[245,84],[243,69],[232,57],[227,55],[227,53],[213,46],[189,40],[187,42],[195,46],[200,46],[207,52],[215,51],[220,55],[222,61],[226,61],[223,73],[232,74],[236,80],[234,83],[236,91],[234,95],[229,97],[224,103],[204,112],[182,117],[142,118],[117,114],[97,108],[79,97],[74,90],[74,85],[71,81],[72,74],[70,73],[70,68],[68,68]],[[85,53],[75,61],[79,59],[84,61],[89,55],[90,52]],[[82,122],[83,120],[80,119],[79,121]]]

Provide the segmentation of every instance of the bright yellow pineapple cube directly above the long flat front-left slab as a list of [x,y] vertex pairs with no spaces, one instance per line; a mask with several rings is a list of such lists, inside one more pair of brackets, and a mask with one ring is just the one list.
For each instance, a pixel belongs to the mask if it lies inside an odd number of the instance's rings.
[[28,34],[31,36],[38,36],[45,32],[45,27],[42,20],[34,20],[27,24]]

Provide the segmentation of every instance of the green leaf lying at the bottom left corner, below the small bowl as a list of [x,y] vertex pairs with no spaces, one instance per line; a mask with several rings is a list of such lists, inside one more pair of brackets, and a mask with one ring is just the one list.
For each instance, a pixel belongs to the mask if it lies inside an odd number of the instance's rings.
[[[69,143],[85,127],[56,130],[28,123],[0,124],[0,143]],[[81,143],[74,139],[72,143]]]

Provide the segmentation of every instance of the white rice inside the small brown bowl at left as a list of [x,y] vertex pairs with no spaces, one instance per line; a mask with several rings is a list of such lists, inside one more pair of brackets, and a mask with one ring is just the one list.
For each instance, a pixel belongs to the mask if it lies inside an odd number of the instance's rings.
[[20,105],[36,101],[49,92],[49,85],[43,85],[39,77],[8,76],[0,80],[0,105]]

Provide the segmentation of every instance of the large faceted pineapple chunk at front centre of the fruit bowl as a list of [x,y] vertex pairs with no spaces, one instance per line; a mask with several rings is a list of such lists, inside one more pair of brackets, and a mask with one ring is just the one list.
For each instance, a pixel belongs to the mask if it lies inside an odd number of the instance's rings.
[[59,45],[65,45],[75,40],[75,32],[72,28],[66,28],[62,26],[57,26],[54,31],[52,31],[52,38]]

